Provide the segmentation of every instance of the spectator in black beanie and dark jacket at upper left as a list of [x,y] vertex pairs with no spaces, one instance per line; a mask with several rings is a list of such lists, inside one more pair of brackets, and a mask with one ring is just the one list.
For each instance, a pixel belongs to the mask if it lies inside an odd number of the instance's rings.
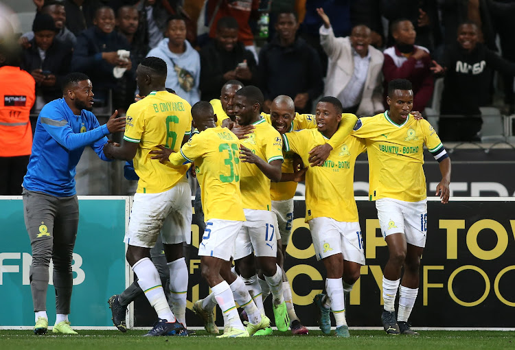
[[36,81],[35,109],[62,97],[62,78],[69,73],[72,47],[56,38],[59,32],[52,16],[36,15],[32,23],[34,38],[30,47],[23,49],[21,68]]

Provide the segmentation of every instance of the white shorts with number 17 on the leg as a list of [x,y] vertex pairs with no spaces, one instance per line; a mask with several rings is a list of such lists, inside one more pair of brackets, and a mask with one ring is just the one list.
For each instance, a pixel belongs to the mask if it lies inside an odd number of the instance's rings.
[[267,210],[243,209],[247,221],[236,238],[234,259],[242,259],[254,251],[256,257],[277,257],[277,229],[274,215]]

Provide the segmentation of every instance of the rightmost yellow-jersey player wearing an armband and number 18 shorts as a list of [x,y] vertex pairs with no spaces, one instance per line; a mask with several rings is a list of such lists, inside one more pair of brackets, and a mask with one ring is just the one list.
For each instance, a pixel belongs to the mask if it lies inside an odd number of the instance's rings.
[[[387,103],[389,110],[361,118],[352,135],[367,143],[369,196],[370,200],[376,200],[382,235],[389,250],[382,278],[385,300],[382,325],[388,334],[417,335],[410,329],[408,318],[417,298],[420,257],[426,245],[424,144],[439,162],[442,181],[436,187],[436,195],[442,203],[449,200],[450,159],[435,129],[426,120],[415,120],[410,114],[413,89],[409,80],[389,82]],[[396,318],[394,303],[398,289]]]

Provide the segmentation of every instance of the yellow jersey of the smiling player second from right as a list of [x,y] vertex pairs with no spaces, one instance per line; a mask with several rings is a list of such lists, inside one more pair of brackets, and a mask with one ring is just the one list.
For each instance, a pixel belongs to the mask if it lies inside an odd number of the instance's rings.
[[[300,130],[283,135],[284,148],[301,156],[308,164],[309,151],[328,138],[319,130]],[[306,222],[312,218],[332,218],[339,222],[358,222],[354,200],[354,165],[365,151],[365,142],[347,136],[340,148],[333,149],[321,167],[306,172]]]

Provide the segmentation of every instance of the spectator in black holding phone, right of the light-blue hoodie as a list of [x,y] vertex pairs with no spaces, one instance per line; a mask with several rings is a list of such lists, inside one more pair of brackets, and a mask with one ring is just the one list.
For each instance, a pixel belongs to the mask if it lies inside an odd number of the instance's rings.
[[202,100],[220,97],[220,89],[229,80],[255,84],[257,65],[251,51],[238,41],[238,21],[222,17],[216,35],[201,51]]

